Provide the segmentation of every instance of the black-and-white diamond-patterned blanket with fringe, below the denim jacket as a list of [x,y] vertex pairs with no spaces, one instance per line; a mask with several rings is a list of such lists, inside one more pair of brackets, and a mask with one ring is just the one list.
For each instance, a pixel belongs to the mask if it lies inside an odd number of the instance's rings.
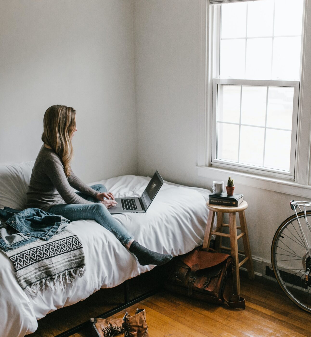
[[13,263],[20,286],[33,297],[57,285],[71,286],[85,272],[85,258],[79,238],[64,229],[48,242],[36,240],[3,252]]

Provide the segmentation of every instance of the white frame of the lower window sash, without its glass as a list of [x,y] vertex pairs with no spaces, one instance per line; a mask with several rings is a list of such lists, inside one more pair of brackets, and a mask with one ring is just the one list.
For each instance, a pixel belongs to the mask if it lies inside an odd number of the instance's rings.
[[[238,162],[217,159],[217,102],[218,102],[218,84],[229,85],[249,85],[249,86],[272,86],[272,87],[293,87],[293,112],[291,129],[291,149],[290,149],[290,167],[289,171],[282,171],[273,168],[259,167]],[[241,80],[241,79],[213,79],[213,98],[212,98],[212,158],[211,166],[223,168],[232,168],[251,173],[269,174],[275,177],[284,177],[294,179],[296,139],[297,139],[297,120],[298,120],[298,100],[299,100],[300,81],[274,81],[274,80]]]

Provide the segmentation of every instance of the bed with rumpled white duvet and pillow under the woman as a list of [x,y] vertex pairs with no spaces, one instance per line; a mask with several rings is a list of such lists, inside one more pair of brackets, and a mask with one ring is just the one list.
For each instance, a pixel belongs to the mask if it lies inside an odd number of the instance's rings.
[[[22,209],[34,162],[0,165],[0,208]],[[149,177],[126,175],[97,182],[115,196],[140,196]],[[209,190],[164,182],[148,211],[116,214],[142,245],[174,256],[203,243]],[[9,259],[0,253],[0,336],[24,336],[37,329],[37,320],[49,312],[86,299],[100,288],[115,287],[154,266],[141,266],[116,237],[93,220],[71,222],[68,227],[81,240],[86,273],[73,287],[47,290],[32,298],[19,286]],[[86,230],[87,229],[87,230]]]

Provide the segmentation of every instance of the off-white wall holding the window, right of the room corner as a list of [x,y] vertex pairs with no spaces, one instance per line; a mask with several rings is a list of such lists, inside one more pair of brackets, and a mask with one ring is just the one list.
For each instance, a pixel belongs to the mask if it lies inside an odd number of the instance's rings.
[[[135,0],[135,87],[138,172],[189,186],[211,188],[197,176],[200,79],[200,3],[205,0]],[[292,214],[298,196],[236,186],[246,210],[256,261],[270,261],[273,235]],[[305,198],[303,198],[304,200]],[[255,263],[260,272],[260,264]]]

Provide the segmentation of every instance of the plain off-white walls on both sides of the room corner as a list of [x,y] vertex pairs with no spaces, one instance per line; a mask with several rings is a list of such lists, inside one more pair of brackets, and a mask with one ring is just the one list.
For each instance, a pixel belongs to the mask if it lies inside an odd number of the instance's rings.
[[[35,159],[44,111],[65,104],[77,110],[73,169],[84,181],[157,169],[210,188],[195,168],[201,1],[2,0],[0,163]],[[236,191],[249,204],[252,253],[269,261],[273,234],[300,197]]]

